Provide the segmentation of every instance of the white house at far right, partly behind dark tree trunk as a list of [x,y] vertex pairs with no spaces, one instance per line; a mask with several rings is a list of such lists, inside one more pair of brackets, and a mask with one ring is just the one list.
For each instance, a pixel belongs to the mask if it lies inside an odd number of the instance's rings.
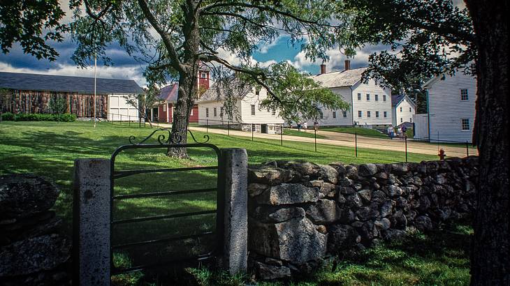
[[429,140],[472,142],[476,78],[458,71],[433,77],[422,87],[427,91]]

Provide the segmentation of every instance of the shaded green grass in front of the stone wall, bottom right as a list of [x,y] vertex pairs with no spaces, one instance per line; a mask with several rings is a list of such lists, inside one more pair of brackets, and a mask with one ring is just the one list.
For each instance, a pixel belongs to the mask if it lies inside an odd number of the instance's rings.
[[[332,257],[325,265],[300,280],[260,282],[279,285],[469,285],[469,241],[472,228],[443,225],[416,233],[402,241],[384,243],[347,257]],[[248,278],[226,278],[221,272],[191,269],[198,285],[246,285]],[[190,283],[193,284],[193,283]]]

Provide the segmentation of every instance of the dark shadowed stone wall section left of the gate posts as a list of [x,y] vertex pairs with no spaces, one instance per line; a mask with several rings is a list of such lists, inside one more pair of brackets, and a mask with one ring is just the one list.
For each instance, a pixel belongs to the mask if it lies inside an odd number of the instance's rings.
[[40,176],[0,176],[0,285],[71,285],[71,241],[50,211],[58,195]]

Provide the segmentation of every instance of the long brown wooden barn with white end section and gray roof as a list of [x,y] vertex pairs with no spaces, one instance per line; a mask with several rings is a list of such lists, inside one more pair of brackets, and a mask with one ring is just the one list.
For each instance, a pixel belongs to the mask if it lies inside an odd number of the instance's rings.
[[[50,113],[50,100],[63,98],[66,113],[94,116],[94,78],[0,72],[2,112]],[[96,116],[110,121],[138,120],[126,99],[143,93],[133,80],[96,79]]]

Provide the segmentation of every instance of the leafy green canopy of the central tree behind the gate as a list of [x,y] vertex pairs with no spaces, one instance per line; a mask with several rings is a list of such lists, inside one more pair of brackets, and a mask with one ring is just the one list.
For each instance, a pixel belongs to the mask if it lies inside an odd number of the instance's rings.
[[343,20],[333,13],[336,5],[336,1],[299,0],[75,0],[71,28],[78,48],[73,59],[86,66],[97,53],[110,62],[106,47],[118,43],[147,65],[150,84],[180,80],[180,96],[191,101],[197,92],[184,90],[188,86],[182,78],[196,77],[198,63],[205,63],[217,82],[237,73],[240,79],[267,89],[263,106],[279,110],[286,119],[295,120],[296,114],[311,117],[319,105],[332,109],[348,105],[289,64],[263,67],[252,55],[259,45],[286,35],[310,59],[328,59],[328,49],[345,40],[340,29]]

